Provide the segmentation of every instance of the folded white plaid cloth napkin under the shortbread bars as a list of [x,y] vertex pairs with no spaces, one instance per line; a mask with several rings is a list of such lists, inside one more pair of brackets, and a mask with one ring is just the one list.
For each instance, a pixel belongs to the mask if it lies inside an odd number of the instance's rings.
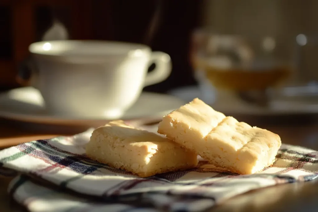
[[201,211],[253,189],[318,178],[318,152],[284,144],[274,165],[258,174],[218,173],[202,161],[140,178],[88,159],[92,131],[0,151],[0,173],[21,174],[10,183],[13,198],[31,212]]

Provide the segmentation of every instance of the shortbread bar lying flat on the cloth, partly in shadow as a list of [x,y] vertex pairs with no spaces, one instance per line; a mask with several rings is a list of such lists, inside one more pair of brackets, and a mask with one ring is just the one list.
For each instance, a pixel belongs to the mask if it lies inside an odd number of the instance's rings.
[[156,133],[109,122],[92,133],[86,155],[140,177],[197,166],[197,154]]

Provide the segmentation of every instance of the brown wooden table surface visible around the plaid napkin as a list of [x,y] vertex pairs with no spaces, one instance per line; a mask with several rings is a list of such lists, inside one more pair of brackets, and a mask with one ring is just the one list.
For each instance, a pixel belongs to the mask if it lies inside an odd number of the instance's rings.
[[[318,150],[318,124],[301,126],[265,126],[259,124],[258,127],[267,128],[280,135],[282,141],[287,144],[301,145]],[[14,126],[8,126],[0,121],[0,148],[4,143],[14,145],[23,141],[35,139],[45,139],[54,137],[52,134],[38,134],[22,131]],[[6,193],[8,183],[12,178],[0,177],[0,209],[2,212],[24,211]],[[318,211],[318,181],[305,183],[291,183],[271,188],[263,188],[248,192],[243,195],[229,199],[212,209],[216,211]]]

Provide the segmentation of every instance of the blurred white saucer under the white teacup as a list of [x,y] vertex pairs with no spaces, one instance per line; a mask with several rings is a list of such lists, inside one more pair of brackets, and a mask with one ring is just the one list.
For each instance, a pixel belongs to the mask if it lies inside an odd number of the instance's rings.
[[[140,98],[121,118],[134,120],[140,118],[156,118],[168,114],[185,102],[174,96],[150,92],[142,92]],[[81,117],[65,117],[50,114],[46,111],[40,92],[33,87],[22,87],[0,94],[0,117],[42,124],[89,125],[100,126],[104,118],[83,119]]]

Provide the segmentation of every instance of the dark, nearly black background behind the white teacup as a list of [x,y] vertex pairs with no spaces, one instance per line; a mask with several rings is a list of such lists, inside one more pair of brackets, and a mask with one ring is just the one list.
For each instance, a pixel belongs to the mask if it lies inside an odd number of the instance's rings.
[[144,43],[168,53],[171,76],[147,91],[193,85],[189,43],[199,25],[201,4],[200,0],[0,0],[0,88],[19,86],[17,66],[28,56],[29,44],[40,41],[51,27],[53,17],[66,26],[69,39]]

